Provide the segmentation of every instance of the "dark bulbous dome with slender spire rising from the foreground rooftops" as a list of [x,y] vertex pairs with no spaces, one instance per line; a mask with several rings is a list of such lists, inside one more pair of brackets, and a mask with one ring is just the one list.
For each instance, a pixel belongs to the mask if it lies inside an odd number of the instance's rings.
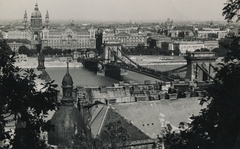
[[72,142],[73,136],[84,132],[87,127],[84,118],[74,106],[76,100],[73,98],[73,80],[69,73],[67,61],[67,72],[62,80],[63,97],[59,109],[54,113],[51,124],[54,124],[54,131],[48,132],[48,143],[51,145],[62,145],[66,142]]

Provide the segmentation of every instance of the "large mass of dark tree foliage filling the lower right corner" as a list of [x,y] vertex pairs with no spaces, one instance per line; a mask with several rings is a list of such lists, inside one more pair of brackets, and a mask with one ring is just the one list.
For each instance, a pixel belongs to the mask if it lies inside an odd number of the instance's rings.
[[[181,123],[180,133],[165,130],[164,142],[175,148],[234,148],[240,138],[240,45],[235,37],[224,61],[219,64],[214,82],[201,104],[207,107],[189,124]],[[239,142],[240,143],[240,142]]]

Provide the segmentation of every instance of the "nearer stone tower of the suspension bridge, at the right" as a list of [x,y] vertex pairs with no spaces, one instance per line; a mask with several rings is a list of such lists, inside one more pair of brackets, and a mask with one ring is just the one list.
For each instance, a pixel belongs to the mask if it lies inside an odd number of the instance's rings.
[[213,79],[212,63],[217,56],[213,52],[192,52],[184,57],[187,60],[186,79],[190,81],[207,81]]

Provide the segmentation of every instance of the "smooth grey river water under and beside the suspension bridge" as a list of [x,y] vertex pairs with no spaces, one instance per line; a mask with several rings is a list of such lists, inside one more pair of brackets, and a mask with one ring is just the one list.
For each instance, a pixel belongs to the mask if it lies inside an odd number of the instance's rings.
[[[168,70],[174,69],[176,67],[180,67],[181,65],[171,65],[171,66],[158,66],[156,69]],[[154,68],[154,67],[153,67]],[[66,74],[66,68],[46,68],[46,71],[50,75],[52,80],[55,80],[55,84],[58,84],[58,89],[61,89],[61,83],[64,75]],[[73,78],[74,86],[112,86],[113,83],[117,83],[119,81],[134,81],[138,83],[143,83],[144,80],[150,80],[152,82],[159,81],[152,77],[148,77],[145,75],[141,75],[138,73],[134,73],[128,71],[128,75],[123,76],[120,80],[115,80],[106,76],[99,76],[95,72],[90,71],[84,67],[78,68],[69,68],[69,72]]]

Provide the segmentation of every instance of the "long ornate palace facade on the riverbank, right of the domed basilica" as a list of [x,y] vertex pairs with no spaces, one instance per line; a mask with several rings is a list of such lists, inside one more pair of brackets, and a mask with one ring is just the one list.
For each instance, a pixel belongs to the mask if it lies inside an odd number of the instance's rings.
[[95,30],[82,30],[72,22],[63,30],[42,30],[43,47],[58,48],[62,50],[94,49],[96,47]]

